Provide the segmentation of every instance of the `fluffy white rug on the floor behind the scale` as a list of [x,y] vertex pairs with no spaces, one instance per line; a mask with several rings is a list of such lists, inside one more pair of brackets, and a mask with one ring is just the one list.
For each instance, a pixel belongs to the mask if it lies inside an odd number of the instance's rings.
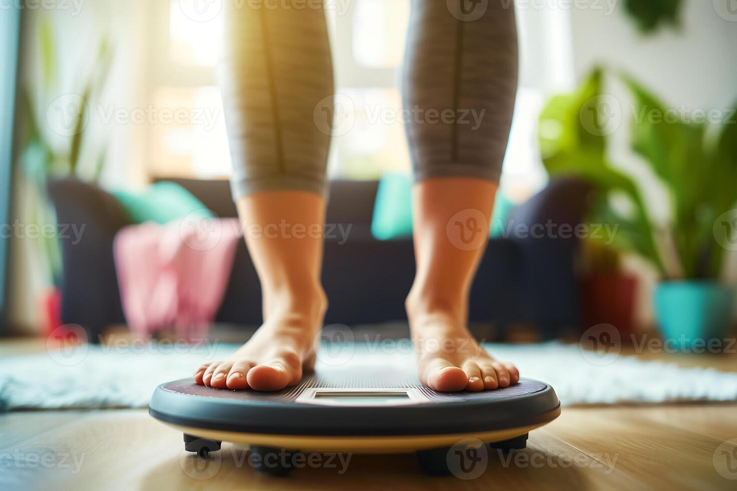
[[[563,405],[737,400],[737,373],[625,356],[597,357],[576,345],[559,343],[487,347],[498,358],[514,361],[523,377],[551,384]],[[235,348],[206,344],[88,346],[5,358],[0,361],[0,411],[142,408],[158,384],[189,377],[203,361],[221,359]],[[394,345],[394,353],[377,349],[381,353],[371,356],[380,356],[383,367],[399,369],[412,361],[408,342]],[[345,358],[346,353],[341,356]],[[363,356],[347,358],[347,363],[365,360]],[[318,364],[339,370],[337,359],[322,356]]]

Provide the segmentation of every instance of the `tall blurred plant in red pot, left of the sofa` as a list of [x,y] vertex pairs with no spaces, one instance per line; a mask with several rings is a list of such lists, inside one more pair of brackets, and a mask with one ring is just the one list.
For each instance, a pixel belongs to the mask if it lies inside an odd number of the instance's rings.
[[[97,52],[93,51],[91,71],[83,75],[79,90],[70,93],[59,87],[55,31],[48,16],[39,20],[38,46],[40,74],[34,80],[40,83],[28,83],[21,89],[26,140],[20,155],[20,169],[29,203],[26,219],[43,225],[56,223],[55,211],[46,194],[49,179],[75,176],[96,181],[102,172],[105,144],[90,144],[93,140],[85,130],[88,107],[102,92],[113,54],[108,38],[103,36]],[[90,151],[85,154],[88,145]],[[49,285],[41,294],[44,330],[48,334],[60,325],[60,248],[56,236],[40,234],[35,242],[37,262]]]

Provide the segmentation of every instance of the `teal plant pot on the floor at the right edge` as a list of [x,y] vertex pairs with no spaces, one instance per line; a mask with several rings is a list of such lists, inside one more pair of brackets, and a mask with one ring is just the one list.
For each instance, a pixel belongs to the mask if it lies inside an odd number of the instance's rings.
[[703,352],[718,344],[724,346],[724,337],[733,325],[734,302],[735,289],[718,283],[660,283],[655,290],[655,315],[664,342],[680,351]]

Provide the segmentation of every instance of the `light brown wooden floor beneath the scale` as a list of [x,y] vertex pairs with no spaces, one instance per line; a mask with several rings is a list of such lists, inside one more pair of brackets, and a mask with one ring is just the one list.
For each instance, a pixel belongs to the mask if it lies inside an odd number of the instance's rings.
[[[733,356],[668,359],[737,371]],[[183,447],[146,411],[10,413],[0,417],[0,490],[737,489],[736,404],[565,408],[525,451],[489,453],[471,480],[422,476],[413,455],[354,455],[345,472],[321,457],[324,466],[273,478],[245,449],[224,443],[203,461]]]

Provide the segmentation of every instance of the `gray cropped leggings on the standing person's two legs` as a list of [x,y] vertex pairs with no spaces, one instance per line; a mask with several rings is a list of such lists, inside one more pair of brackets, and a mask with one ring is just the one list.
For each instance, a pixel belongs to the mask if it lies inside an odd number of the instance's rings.
[[[323,9],[304,0],[226,1],[223,105],[234,198],[322,194],[332,106]],[[513,1],[412,0],[402,74],[416,180],[499,180],[517,91]]]

